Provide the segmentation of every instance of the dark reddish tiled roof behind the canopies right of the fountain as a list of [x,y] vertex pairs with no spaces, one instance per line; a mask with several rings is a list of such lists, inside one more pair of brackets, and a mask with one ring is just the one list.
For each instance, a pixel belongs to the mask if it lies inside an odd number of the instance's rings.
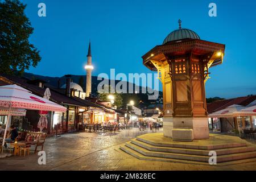
[[214,113],[216,111],[225,109],[226,107],[231,106],[233,104],[246,106],[246,105],[249,105],[254,100],[256,100],[256,95],[255,96],[247,96],[247,97],[230,98],[228,100],[215,101],[210,104],[207,104],[207,111],[209,114]]

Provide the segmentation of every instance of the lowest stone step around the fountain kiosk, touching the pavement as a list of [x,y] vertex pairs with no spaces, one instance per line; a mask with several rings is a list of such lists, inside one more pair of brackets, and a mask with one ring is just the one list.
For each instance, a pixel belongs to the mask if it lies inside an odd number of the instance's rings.
[[[122,150],[123,152],[126,152],[126,154],[134,156],[135,158],[140,159],[140,160],[151,160],[151,161],[158,161],[158,162],[184,163],[184,164],[199,164],[199,165],[207,165],[207,166],[209,165],[209,163],[205,163],[205,162],[196,162],[196,161],[189,161],[189,160],[144,156],[141,153],[139,153],[129,147],[126,147],[125,144],[121,144],[121,146],[119,146],[119,149]],[[234,164],[243,164],[243,163],[251,163],[251,162],[256,162],[256,158],[234,160],[234,161],[230,161],[230,162],[222,162],[222,163],[217,163],[214,166],[229,166],[229,165],[234,165]]]

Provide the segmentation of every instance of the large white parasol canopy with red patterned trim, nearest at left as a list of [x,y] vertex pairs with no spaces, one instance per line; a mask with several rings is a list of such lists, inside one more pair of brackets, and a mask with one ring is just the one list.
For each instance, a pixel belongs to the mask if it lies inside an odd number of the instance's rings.
[[36,96],[20,86],[0,86],[0,106],[10,107],[10,105],[12,108],[59,111],[61,113],[67,110],[66,107]]

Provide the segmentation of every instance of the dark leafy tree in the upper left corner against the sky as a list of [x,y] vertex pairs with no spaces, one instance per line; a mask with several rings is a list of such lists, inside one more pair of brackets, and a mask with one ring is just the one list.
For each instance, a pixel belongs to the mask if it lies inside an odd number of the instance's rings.
[[24,14],[26,5],[18,0],[0,2],[0,72],[22,74],[41,60],[28,40],[34,28]]

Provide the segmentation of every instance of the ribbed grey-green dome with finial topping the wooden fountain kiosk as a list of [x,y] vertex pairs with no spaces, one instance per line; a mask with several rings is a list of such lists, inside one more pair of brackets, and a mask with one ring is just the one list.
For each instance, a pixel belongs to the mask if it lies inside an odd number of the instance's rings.
[[181,28],[181,20],[179,20],[179,29],[172,31],[165,39],[163,44],[166,44],[167,42],[172,42],[175,40],[181,40],[181,39],[200,39],[199,35],[196,34],[196,32],[189,30],[187,28]]

